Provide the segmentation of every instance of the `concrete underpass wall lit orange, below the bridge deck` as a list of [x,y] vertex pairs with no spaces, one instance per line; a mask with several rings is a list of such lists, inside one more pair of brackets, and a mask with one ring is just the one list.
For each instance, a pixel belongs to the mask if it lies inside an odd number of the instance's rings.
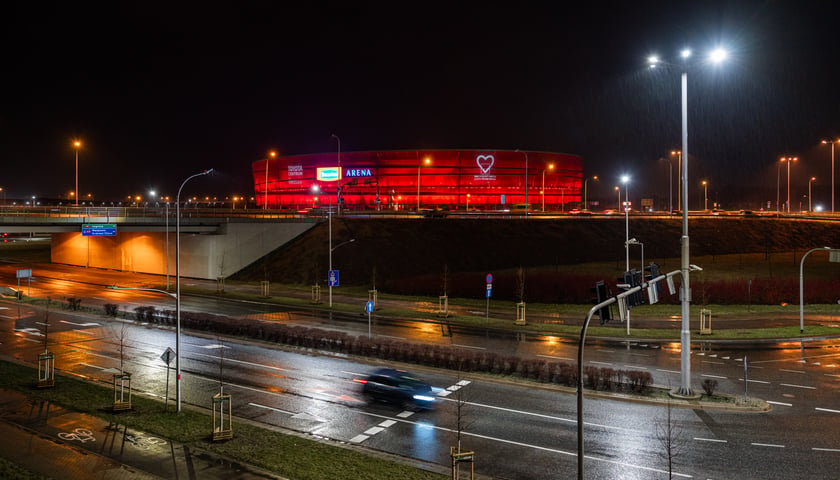
[[[226,223],[218,234],[181,232],[181,276],[228,277],[317,225],[293,223]],[[115,237],[52,234],[53,263],[107,268],[124,272],[175,275],[175,232],[118,231]],[[167,255],[168,252],[168,255]]]

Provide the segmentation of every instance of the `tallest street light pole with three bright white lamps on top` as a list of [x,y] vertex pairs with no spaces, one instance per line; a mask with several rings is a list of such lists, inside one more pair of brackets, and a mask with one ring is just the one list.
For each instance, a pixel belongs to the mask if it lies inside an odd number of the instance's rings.
[[[693,397],[694,392],[691,388],[691,329],[689,325],[690,312],[689,306],[691,304],[691,287],[689,280],[689,272],[691,265],[689,263],[689,239],[688,239],[688,59],[691,58],[691,50],[683,49],[680,52],[682,64],[679,65],[682,73],[680,75],[680,93],[681,93],[681,120],[682,120],[682,154],[680,155],[680,163],[682,165],[682,176],[680,178],[682,184],[682,206],[683,221],[682,221],[682,238],[680,245],[680,276],[682,282],[680,285],[680,303],[682,322],[680,327],[680,388],[674,392],[676,396]],[[725,50],[717,48],[709,55],[709,61],[717,64],[726,60],[727,53]],[[657,57],[650,57],[648,59],[651,67],[661,63]]]

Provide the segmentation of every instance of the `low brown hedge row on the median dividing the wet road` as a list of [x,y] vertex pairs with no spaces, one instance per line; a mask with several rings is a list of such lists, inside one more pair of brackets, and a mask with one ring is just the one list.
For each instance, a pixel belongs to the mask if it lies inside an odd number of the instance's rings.
[[[109,313],[107,307],[106,313]],[[176,323],[174,310],[157,310],[154,307],[136,307],[134,320],[168,326],[174,326]],[[213,332],[217,335],[246,337],[295,347],[414,363],[460,372],[513,376],[569,387],[577,385],[577,366],[568,362],[521,358],[515,355],[502,355],[448,345],[418,344],[389,338],[368,338],[362,335],[352,336],[344,332],[243,320],[209,313],[181,312],[181,327]],[[653,384],[653,377],[645,371],[587,366],[583,373],[584,385],[593,390],[642,393]]]

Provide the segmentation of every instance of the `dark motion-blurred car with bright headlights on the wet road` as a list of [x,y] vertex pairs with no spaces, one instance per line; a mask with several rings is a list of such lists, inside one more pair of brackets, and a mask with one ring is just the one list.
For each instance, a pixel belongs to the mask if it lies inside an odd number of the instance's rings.
[[366,378],[354,379],[362,385],[362,394],[374,401],[403,407],[433,408],[437,396],[431,385],[405,370],[380,368]]

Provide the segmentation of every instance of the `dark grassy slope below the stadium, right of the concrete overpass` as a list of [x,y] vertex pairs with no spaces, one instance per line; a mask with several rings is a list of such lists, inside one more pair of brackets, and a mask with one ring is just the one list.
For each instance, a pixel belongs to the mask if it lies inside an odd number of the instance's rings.
[[[679,218],[630,217],[629,236],[644,243],[645,263],[657,262],[663,271],[679,269],[681,233]],[[798,294],[803,253],[813,247],[840,247],[840,225],[763,217],[692,218],[689,237],[691,263],[704,268],[693,277],[695,282],[708,282],[711,294],[735,289],[738,298],[746,298],[747,289],[768,290],[767,301],[775,303]],[[376,286],[390,293],[439,295],[445,277],[450,296],[479,297],[485,275],[493,273],[494,298],[514,299],[521,290],[522,267],[529,301],[586,303],[595,281],[614,284],[625,267],[623,217],[334,219],[333,245],[350,239],[355,241],[333,252],[342,285]],[[233,277],[324,284],[328,242],[323,223]],[[640,256],[641,249],[631,246],[631,268],[641,267]],[[840,278],[838,265],[827,259],[823,252],[808,257],[809,278]]]

